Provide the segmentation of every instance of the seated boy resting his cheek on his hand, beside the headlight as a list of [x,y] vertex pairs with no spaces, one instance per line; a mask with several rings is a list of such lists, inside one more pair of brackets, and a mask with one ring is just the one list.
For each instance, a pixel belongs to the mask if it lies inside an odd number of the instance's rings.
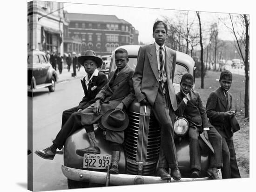
[[222,167],[222,137],[216,128],[212,127],[206,116],[206,109],[198,92],[192,90],[193,76],[186,73],[181,79],[181,91],[176,94],[178,109],[177,116],[183,115],[189,121],[189,154],[191,177],[198,178],[201,172],[201,152],[199,147],[199,134],[211,142],[214,154],[210,152],[210,166],[207,173],[213,179],[218,179],[217,169]]

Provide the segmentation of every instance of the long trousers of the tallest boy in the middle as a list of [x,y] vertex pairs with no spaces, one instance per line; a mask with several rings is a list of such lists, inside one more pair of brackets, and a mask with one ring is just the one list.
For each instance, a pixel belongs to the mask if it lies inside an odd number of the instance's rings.
[[165,83],[165,88],[166,93],[163,94],[162,87],[159,83],[159,89],[152,111],[161,127],[159,167],[173,168],[178,166],[173,129],[175,116],[169,99],[167,83]]

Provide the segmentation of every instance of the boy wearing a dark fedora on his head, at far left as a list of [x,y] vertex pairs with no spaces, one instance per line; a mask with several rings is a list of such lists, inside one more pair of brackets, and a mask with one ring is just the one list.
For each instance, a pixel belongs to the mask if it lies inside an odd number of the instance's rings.
[[[84,56],[78,58],[78,62],[84,66],[86,72],[86,76],[81,79],[82,88],[84,90],[84,97],[82,98],[81,102],[79,102],[78,106],[67,109],[62,113],[61,128],[63,128],[71,114],[73,114],[74,112],[81,112],[83,109],[86,109],[92,103],[94,103],[95,96],[107,83],[106,75],[97,69],[98,67],[101,67],[102,60],[101,58],[96,57],[94,51],[86,51]],[[63,131],[67,135],[71,135],[73,133],[73,131],[67,129]],[[57,154],[63,153],[62,151],[56,151],[56,148],[57,147],[53,145],[44,150],[37,150],[35,153],[44,159],[53,159],[53,155],[55,155],[56,152]]]

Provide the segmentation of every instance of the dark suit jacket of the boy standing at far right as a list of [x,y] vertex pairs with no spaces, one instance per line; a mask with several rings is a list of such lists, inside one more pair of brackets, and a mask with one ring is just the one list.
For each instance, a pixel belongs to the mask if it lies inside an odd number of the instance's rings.
[[229,118],[224,117],[224,112],[232,108],[232,95],[228,93],[228,99],[223,93],[221,87],[211,92],[206,103],[207,116],[210,123],[217,131],[226,138],[231,138],[233,132]]

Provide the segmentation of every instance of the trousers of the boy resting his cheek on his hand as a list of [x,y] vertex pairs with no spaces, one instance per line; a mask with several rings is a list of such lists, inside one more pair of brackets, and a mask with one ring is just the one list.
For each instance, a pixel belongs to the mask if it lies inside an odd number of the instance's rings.
[[[189,127],[189,155],[190,168],[201,171],[201,149],[199,146],[199,129]],[[222,136],[216,128],[211,127],[208,131],[209,141],[214,149],[214,154],[209,152],[210,166],[209,168],[222,167]]]

